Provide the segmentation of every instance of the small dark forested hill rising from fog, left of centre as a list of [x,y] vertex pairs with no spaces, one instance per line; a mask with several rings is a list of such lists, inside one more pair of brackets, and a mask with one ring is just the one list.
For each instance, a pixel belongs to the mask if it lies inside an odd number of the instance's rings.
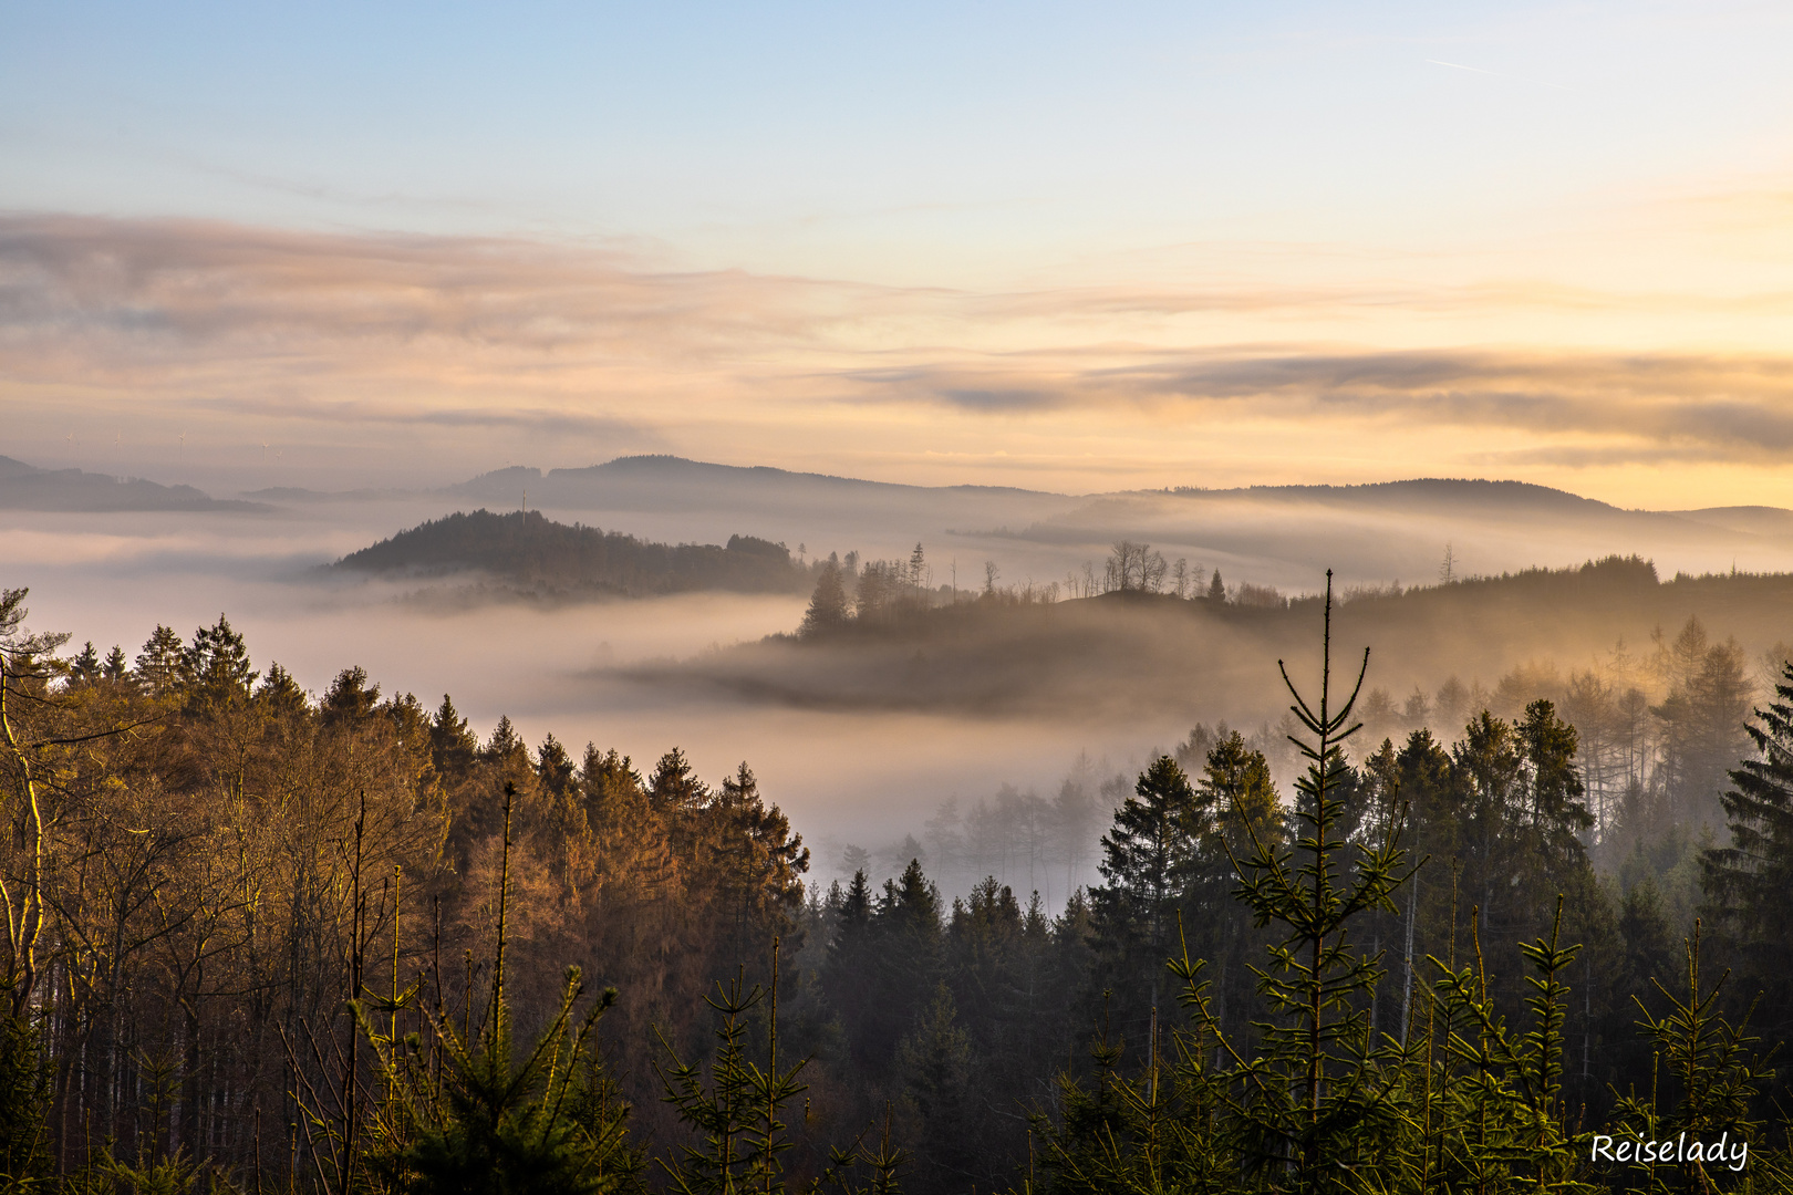
[[362,573],[488,573],[538,593],[647,597],[697,589],[801,593],[807,568],[780,543],[730,536],[714,543],[653,543],[538,511],[455,512],[351,552],[333,564]]

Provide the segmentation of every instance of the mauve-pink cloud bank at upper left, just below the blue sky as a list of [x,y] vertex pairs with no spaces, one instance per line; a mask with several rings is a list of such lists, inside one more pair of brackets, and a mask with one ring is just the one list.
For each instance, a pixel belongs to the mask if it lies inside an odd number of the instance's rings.
[[[522,240],[326,236],[167,220],[0,220],[9,339],[108,333],[170,344],[260,337],[441,337],[554,353],[800,335],[821,287],[665,272],[615,253]],[[837,290],[837,288],[830,288]]]

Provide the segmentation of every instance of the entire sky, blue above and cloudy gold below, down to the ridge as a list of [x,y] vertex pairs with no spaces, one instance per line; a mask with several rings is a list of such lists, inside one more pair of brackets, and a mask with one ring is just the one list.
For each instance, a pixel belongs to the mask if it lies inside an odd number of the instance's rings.
[[0,453],[1793,505],[1784,4],[0,2]]

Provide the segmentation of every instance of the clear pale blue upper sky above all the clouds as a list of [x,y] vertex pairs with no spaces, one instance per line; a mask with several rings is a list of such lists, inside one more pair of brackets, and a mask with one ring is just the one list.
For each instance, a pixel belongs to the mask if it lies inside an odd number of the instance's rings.
[[0,45],[7,208],[773,269],[1449,236],[1779,170],[1793,116],[1775,5],[14,4]]

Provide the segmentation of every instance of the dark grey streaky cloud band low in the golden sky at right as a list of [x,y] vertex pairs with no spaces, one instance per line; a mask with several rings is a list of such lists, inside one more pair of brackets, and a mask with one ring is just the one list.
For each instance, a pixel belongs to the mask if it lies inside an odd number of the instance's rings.
[[[862,371],[868,398],[972,412],[1142,407],[1185,419],[1334,419],[1599,437],[1533,460],[1768,460],[1793,450],[1793,358],[1278,346],[1130,364],[1011,357],[975,369]],[[1052,360],[1056,357],[1056,360]],[[1513,455],[1511,460],[1524,460]]]

